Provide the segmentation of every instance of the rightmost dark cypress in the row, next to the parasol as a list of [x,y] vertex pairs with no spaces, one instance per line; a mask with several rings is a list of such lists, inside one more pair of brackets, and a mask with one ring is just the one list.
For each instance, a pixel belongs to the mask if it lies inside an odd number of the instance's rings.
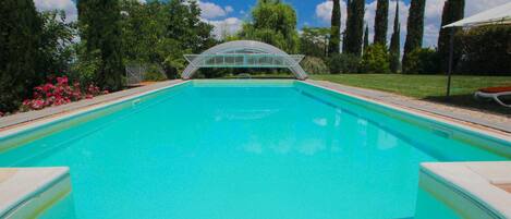
[[[455,21],[462,20],[465,11],[465,0],[448,0],[443,3],[443,11],[441,16],[441,26],[448,25]],[[461,32],[461,27],[450,27],[455,28],[454,35]],[[449,41],[451,29],[450,28],[440,28],[440,34],[438,35],[438,54],[440,59],[440,70],[442,72],[448,71],[449,66]],[[460,59],[460,47],[454,46],[454,57],[453,57],[453,66]]]

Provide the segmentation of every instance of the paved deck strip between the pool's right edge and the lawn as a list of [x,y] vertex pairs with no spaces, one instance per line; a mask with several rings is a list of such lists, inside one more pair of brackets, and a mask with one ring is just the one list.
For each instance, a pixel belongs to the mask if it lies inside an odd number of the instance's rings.
[[307,82],[353,96],[364,97],[404,109],[419,111],[422,113],[428,113],[434,117],[440,117],[455,123],[484,129],[489,132],[497,132],[503,135],[509,135],[511,133],[511,115],[452,107],[391,93],[346,86],[326,81],[307,80]]

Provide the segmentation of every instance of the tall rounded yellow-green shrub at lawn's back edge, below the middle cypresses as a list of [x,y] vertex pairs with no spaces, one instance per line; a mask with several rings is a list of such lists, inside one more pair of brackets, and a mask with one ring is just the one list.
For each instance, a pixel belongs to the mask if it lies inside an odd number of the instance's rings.
[[380,44],[370,45],[364,49],[360,69],[363,73],[390,73],[389,61],[390,56],[385,46]]

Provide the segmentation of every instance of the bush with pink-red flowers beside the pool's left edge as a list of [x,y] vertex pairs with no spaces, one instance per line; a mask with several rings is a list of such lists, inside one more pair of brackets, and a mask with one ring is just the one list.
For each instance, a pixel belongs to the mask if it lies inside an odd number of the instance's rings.
[[80,83],[69,85],[66,76],[49,78],[48,83],[34,87],[33,99],[25,99],[21,107],[22,111],[40,110],[46,107],[65,105],[81,99],[90,99],[95,96],[108,94],[99,87],[90,84],[84,90]]

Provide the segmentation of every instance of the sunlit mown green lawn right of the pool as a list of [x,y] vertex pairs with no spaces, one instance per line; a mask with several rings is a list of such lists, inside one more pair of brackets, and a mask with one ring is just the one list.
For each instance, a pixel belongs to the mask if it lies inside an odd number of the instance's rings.
[[[379,89],[415,98],[442,97],[446,95],[445,75],[403,74],[316,74],[312,80],[323,80],[356,87]],[[490,86],[511,86],[511,76],[453,76],[453,96],[472,95]]]

